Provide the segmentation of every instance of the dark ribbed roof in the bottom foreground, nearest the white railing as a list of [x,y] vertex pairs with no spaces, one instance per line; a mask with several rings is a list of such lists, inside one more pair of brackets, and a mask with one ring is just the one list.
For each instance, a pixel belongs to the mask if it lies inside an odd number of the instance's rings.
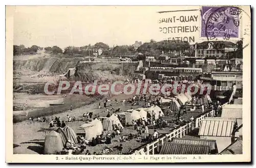
[[177,143],[164,143],[160,154],[168,155],[193,155],[193,154],[209,154],[210,147],[204,145],[186,145]]

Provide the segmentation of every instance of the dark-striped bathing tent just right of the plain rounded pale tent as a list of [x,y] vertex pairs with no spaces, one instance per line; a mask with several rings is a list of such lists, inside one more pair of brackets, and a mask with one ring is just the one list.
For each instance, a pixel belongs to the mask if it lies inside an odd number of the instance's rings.
[[75,133],[75,131],[70,128],[69,126],[66,126],[64,128],[58,128],[56,130],[56,132],[58,132],[61,136],[61,141],[63,146],[66,145],[66,142],[70,139],[73,143],[77,144],[77,135]]

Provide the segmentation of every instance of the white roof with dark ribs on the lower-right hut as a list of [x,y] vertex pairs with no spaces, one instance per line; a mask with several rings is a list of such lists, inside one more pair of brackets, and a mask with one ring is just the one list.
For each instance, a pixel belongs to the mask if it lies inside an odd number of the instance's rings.
[[233,120],[204,119],[200,125],[198,135],[201,136],[232,136]]

